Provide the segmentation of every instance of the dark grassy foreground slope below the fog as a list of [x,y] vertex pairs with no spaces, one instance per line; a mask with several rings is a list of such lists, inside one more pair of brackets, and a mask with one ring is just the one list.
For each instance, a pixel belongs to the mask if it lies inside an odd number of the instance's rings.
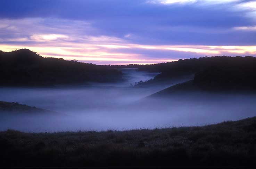
[[203,127],[0,132],[0,165],[256,166],[256,117]]

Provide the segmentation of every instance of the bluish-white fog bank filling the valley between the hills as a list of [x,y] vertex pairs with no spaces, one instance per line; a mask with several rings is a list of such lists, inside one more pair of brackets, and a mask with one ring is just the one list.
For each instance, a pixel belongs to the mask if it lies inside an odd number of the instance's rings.
[[[0,88],[1,101],[60,112],[59,115],[1,113],[0,130],[129,130],[205,125],[256,115],[255,95],[187,93],[179,97],[143,99],[165,86],[134,88],[131,84],[153,78],[156,73],[135,69],[123,72],[127,81],[115,84]],[[190,97],[193,95],[197,97]]]

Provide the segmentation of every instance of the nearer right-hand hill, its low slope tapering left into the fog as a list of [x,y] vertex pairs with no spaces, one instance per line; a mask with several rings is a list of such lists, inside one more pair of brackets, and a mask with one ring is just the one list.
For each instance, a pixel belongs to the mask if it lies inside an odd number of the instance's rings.
[[193,80],[168,87],[154,96],[187,92],[256,92],[255,66],[229,65],[226,67],[210,67],[197,72]]

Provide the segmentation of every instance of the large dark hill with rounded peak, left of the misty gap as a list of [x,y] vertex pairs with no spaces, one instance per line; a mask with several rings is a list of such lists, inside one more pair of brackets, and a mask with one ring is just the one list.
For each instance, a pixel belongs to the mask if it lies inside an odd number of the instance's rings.
[[0,85],[44,86],[84,82],[115,82],[122,72],[61,58],[44,58],[28,49],[0,51]]

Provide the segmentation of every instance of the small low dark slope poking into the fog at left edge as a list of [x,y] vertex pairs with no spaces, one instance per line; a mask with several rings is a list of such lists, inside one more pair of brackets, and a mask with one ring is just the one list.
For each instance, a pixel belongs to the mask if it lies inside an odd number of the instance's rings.
[[0,101],[0,112],[1,113],[51,113],[56,114],[57,112],[39,109],[36,107],[27,106],[25,104],[19,104],[16,102],[2,102]]

